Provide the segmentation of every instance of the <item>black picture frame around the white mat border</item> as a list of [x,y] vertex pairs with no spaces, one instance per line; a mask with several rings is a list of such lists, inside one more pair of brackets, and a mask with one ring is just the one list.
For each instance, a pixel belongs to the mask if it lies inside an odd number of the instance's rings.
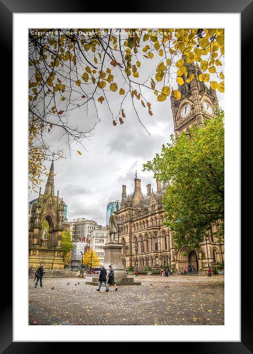
[[[125,3],[125,2],[124,2]],[[118,4],[116,4],[118,5]],[[83,1],[67,1],[67,0],[43,0],[43,1],[30,1],[30,0],[0,0],[0,38],[1,38],[1,49],[4,53],[4,58],[12,57],[12,15],[13,13],[32,13],[32,12],[67,12],[67,13],[78,13],[78,12],[94,12],[94,7],[92,2],[86,3]],[[108,2],[101,3],[99,6],[100,13],[108,12],[108,9],[112,9],[112,6],[108,6]],[[249,122],[249,114],[247,112],[247,107],[252,98],[250,97],[251,89],[246,89],[247,82],[250,80],[249,71],[249,48],[251,47],[253,39],[253,0],[160,0],[155,2],[138,1],[132,2],[131,6],[129,4],[129,9],[131,12],[148,12],[148,13],[162,13],[162,12],[184,12],[184,13],[240,13],[241,14],[241,88],[244,88],[243,94],[241,95],[241,107],[244,110],[244,115],[242,111],[242,117],[244,121],[241,123],[241,129],[246,127]],[[118,12],[118,9],[114,12]],[[126,11],[126,7],[123,12]],[[5,63],[6,65],[6,63]],[[10,65],[10,62],[9,62]],[[251,70],[252,71],[252,70]],[[251,84],[252,86],[252,84]],[[4,83],[4,91],[12,91],[12,80],[11,76],[8,74],[8,80]],[[240,97],[236,97],[240,99]],[[9,107],[12,104],[10,102]],[[252,115],[252,114],[251,114]],[[247,118],[248,117],[248,118]],[[10,120],[11,121],[11,120]],[[241,143],[241,156],[245,157],[247,152],[250,151],[250,138],[247,137],[242,139]],[[248,167],[248,164],[247,164]],[[246,164],[245,164],[246,170]],[[243,170],[242,170],[243,171]],[[246,172],[246,171],[245,171]],[[246,207],[246,192],[248,193],[248,187],[252,185],[249,170],[241,178],[241,193],[242,193],[242,207],[245,205],[243,212],[241,214],[241,250],[243,252],[243,265],[241,272],[241,342],[180,342],[180,343],[170,343],[170,346],[176,344],[180,346],[181,351],[186,351],[186,353],[205,353],[205,354],[219,354],[219,353],[229,353],[229,354],[249,354],[253,353],[253,326],[252,326],[252,316],[250,316],[250,310],[252,309],[252,295],[251,291],[247,291],[248,284],[252,283],[252,271],[251,271],[251,259],[252,259],[252,237],[249,234],[247,237],[247,224],[251,221],[252,217],[250,215],[251,208]],[[248,199],[248,198],[247,198]],[[240,216],[238,216],[239,218]],[[239,235],[238,235],[239,236]],[[11,240],[8,240],[11,242]],[[8,243],[8,248],[11,249],[11,245]],[[11,265],[9,263],[9,255],[6,253],[6,262],[8,260],[8,271],[3,271],[3,279],[1,283],[5,285],[4,288],[4,298],[2,301],[3,309],[0,315],[0,352],[4,354],[23,354],[23,353],[51,353],[57,350],[57,343],[47,343],[47,342],[13,342],[12,340],[12,291],[10,284],[10,271]],[[238,266],[235,264],[235,266]],[[13,271],[17,271],[13,269]],[[230,269],[231,276],[233,276],[233,269]],[[4,280],[5,277],[5,280]],[[8,286],[7,286],[8,284]],[[9,292],[9,294],[8,294]],[[3,293],[3,291],[2,291]],[[187,330],[187,329],[186,329]],[[199,338],[201,341],[201,338]],[[212,340],[212,338],[210,338]],[[155,339],[154,339],[155,341]],[[70,343],[70,345],[72,345]],[[69,343],[64,344],[65,348],[69,347]],[[171,348],[171,347],[170,347]],[[102,348],[101,348],[102,349]],[[84,350],[84,348],[83,348]],[[103,350],[103,349],[102,349]]]

